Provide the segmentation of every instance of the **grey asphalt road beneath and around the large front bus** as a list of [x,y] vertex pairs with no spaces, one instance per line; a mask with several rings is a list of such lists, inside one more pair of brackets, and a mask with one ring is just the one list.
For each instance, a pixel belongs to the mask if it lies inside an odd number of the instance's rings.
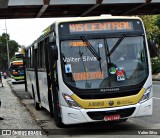
[[[45,109],[37,111],[34,108],[33,99],[28,92],[24,90],[24,84],[11,84],[15,95],[35,120],[37,125],[42,128],[48,137],[155,137],[158,135],[146,135],[147,133],[160,133],[160,82],[154,82],[153,85],[153,115],[147,117],[138,117],[129,119],[123,123],[87,123],[80,125],[71,125],[67,128],[57,128],[54,119],[50,118],[49,112]],[[140,135],[141,133],[141,135]]]

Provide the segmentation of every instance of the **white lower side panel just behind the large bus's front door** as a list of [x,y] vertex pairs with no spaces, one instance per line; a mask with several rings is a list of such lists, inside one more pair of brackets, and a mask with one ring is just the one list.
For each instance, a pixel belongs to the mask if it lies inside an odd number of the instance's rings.
[[47,83],[47,73],[38,72],[38,83],[39,83],[39,92],[41,97],[41,104],[49,111],[48,103],[48,83]]

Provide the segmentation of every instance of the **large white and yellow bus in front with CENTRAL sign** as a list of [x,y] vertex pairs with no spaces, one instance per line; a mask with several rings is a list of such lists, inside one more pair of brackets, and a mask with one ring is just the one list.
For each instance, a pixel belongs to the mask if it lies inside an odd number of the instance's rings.
[[58,127],[152,115],[152,75],[138,17],[58,19],[26,48],[27,88]]

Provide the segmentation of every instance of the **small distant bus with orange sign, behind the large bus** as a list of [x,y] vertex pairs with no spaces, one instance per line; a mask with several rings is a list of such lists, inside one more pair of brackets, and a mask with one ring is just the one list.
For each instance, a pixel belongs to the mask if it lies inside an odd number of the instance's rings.
[[23,60],[16,60],[10,63],[10,74],[12,84],[25,82]]

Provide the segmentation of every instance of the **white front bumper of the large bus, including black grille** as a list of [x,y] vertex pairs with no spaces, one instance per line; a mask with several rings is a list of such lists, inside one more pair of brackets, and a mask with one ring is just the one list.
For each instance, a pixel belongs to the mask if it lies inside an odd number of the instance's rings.
[[136,105],[101,108],[101,109],[73,109],[61,106],[62,122],[66,125],[87,122],[105,121],[106,115],[120,114],[121,119],[152,115],[152,98]]

